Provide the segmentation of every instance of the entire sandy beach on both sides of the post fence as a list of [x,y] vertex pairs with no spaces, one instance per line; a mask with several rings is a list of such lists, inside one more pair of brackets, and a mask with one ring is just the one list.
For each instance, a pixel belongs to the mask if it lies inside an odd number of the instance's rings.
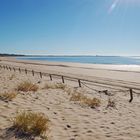
[[[140,66],[23,61],[13,58],[0,58],[0,60],[0,65],[92,80],[98,85],[90,86],[90,88],[108,90],[111,93],[111,95],[106,95],[84,86],[79,88],[78,83],[72,81],[65,82],[66,89],[46,89],[44,88],[46,83],[56,84],[56,82],[61,82],[60,79],[50,81],[47,76],[40,78],[37,74],[32,76],[31,73],[25,74],[25,72],[19,73],[1,68],[1,93],[14,91],[23,81],[30,81],[39,87],[36,92],[19,92],[12,101],[0,100],[1,140],[22,139],[15,137],[12,132],[7,133],[7,129],[12,126],[11,118],[22,110],[41,112],[48,116],[50,124],[46,135],[49,140],[140,139],[139,95],[135,94],[134,100],[129,103],[129,92],[112,91],[123,90],[119,85],[139,88]],[[105,85],[103,83],[106,83],[108,87],[103,87]],[[98,98],[101,101],[100,106],[91,108],[71,101],[73,91],[80,92],[89,98]],[[114,106],[108,107],[109,99]]]

